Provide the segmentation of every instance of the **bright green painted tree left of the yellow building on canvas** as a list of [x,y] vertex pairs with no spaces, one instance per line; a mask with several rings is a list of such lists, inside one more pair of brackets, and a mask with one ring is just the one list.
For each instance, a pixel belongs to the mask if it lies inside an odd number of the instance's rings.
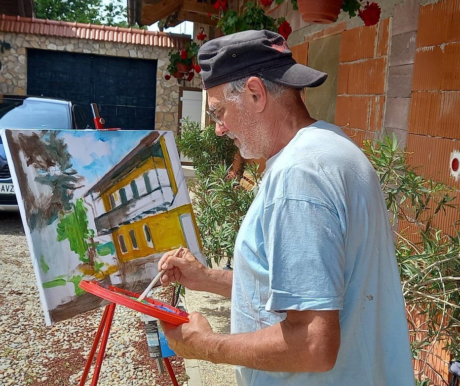
[[97,256],[96,245],[94,242],[94,230],[88,228],[88,209],[83,204],[83,199],[78,198],[72,204],[72,210],[60,218],[56,231],[57,240],[69,240],[70,249],[74,251],[80,261],[88,263],[92,268],[95,267]]

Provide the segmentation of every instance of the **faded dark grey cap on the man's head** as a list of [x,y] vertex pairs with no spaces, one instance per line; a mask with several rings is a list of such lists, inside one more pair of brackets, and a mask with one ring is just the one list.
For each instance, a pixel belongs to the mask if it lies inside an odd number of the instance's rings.
[[198,51],[204,89],[248,76],[290,87],[317,87],[327,74],[297,63],[286,40],[267,30],[243,31],[212,39]]

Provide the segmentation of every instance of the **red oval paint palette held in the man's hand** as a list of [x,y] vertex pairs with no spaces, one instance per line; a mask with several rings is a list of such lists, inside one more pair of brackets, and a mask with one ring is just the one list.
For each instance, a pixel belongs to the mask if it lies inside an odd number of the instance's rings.
[[139,302],[136,299],[139,298],[140,294],[92,280],[81,280],[78,286],[109,302],[134,309],[176,326],[189,322],[187,312],[159,300],[144,298],[142,302]]

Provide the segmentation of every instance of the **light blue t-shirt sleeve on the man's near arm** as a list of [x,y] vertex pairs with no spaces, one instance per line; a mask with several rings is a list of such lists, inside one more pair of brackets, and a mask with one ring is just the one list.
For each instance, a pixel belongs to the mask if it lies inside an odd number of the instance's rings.
[[343,308],[345,243],[333,208],[278,198],[264,214],[267,311]]

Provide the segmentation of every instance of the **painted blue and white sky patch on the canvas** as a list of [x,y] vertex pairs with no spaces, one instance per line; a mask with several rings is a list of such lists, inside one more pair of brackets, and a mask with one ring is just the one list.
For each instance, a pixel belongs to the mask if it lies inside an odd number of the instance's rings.
[[[74,169],[85,181],[84,192],[133,150],[150,131],[62,131]],[[83,194],[84,192],[81,191]]]

